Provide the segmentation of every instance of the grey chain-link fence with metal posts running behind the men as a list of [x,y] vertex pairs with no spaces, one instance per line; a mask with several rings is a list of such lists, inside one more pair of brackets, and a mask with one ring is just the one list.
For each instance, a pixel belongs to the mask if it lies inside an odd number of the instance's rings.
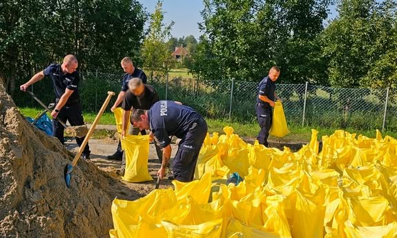
[[[119,92],[122,76],[122,73],[81,73],[79,92],[84,110],[98,111],[106,99],[107,91]],[[205,117],[232,119],[242,123],[256,121],[256,82],[164,77],[148,79],[148,83],[157,90],[160,99],[182,101]],[[36,83],[34,90],[40,92],[43,99],[54,97],[52,85],[48,81]],[[276,92],[282,99],[290,125],[397,131],[396,90],[278,83]],[[23,103],[24,99],[28,100],[24,97],[17,96],[19,105],[32,106],[30,102]]]

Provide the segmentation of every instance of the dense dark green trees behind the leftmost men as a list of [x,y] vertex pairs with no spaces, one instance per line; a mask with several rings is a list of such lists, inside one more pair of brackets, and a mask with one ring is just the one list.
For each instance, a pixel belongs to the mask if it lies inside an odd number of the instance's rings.
[[79,70],[119,70],[129,55],[139,63],[146,12],[136,0],[2,1],[0,78],[12,95],[17,79],[66,54]]

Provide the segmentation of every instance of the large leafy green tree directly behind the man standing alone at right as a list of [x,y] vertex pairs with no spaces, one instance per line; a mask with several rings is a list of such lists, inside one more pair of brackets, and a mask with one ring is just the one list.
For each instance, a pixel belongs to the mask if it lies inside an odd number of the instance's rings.
[[209,81],[259,81],[278,65],[284,82],[320,81],[326,70],[318,67],[324,65],[318,38],[328,6],[328,0],[206,0],[200,55],[193,57],[201,66],[191,70],[208,69],[201,73]]

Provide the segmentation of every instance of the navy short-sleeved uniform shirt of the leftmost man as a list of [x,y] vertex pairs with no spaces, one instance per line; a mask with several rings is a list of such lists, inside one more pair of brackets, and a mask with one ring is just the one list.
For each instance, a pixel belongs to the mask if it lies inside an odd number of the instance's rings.
[[79,72],[75,71],[71,74],[62,72],[61,65],[52,63],[45,70],[43,70],[44,76],[50,76],[52,83],[54,84],[55,97],[60,99],[64,95],[66,88],[73,90],[74,92],[68,98],[66,104],[76,103],[79,101]]

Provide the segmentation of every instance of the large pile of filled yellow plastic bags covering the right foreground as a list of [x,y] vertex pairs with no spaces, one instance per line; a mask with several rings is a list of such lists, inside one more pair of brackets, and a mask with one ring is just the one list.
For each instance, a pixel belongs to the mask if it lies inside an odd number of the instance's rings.
[[[337,130],[319,152],[313,130],[291,152],[224,132],[206,137],[199,180],[116,199],[110,237],[397,237],[396,139]],[[237,186],[218,179],[236,171]]]

